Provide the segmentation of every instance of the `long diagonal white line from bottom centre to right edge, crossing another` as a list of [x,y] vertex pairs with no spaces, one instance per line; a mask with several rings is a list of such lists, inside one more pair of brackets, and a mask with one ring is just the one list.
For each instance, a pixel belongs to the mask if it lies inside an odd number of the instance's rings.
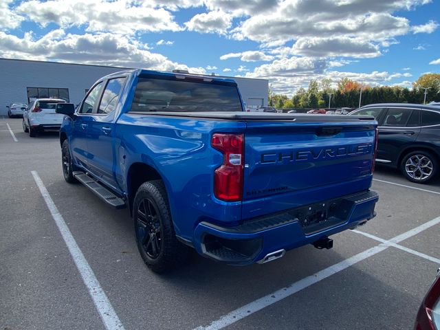
[[[418,227],[412,230],[408,230],[408,232],[404,232],[404,234],[395,236],[393,239],[389,240],[388,243],[399,243],[401,241],[404,241],[405,239],[409,239],[410,237],[415,236],[416,234],[419,234],[419,232],[422,232],[423,230],[426,230],[432,227],[433,225],[437,225],[438,223],[440,223],[440,217],[432,219],[427,223],[423,223],[423,225],[419,225]],[[279,289],[272,294],[268,294],[267,296],[264,296],[263,298],[254,300],[252,303],[249,303],[248,305],[244,305],[239,309],[235,309],[234,311],[231,311],[230,313],[219,318],[219,320],[211,322],[210,325],[206,327],[203,326],[197,327],[196,330],[205,330],[205,329],[217,330],[217,329],[223,329],[224,327],[228,327],[228,325],[232,325],[234,322],[237,322],[245,318],[246,316],[250,316],[256,311],[260,311],[261,309],[270,306],[274,303],[277,303],[278,301],[287,298],[288,296],[292,296],[292,294],[296,294],[296,292],[300,292],[302,289],[314,285],[333,274],[337,274],[338,272],[341,272],[342,270],[345,270],[348,267],[355,265],[356,263],[359,263],[360,261],[364,261],[365,259],[386,250],[390,246],[392,245],[381,243],[380,245],[376,245],[375,247],[365,250],[364,252],[355,254],[354,256],[351,256],[349,259],[340,261],[340,263],[331,265],[330,267],[327,267],[324,270],[321,270],[320,272],[317,272],[311,276],[307,276],[306,278],[303,278],[295,283],[292,283],[292,285],[283,287],[283,289]]]

